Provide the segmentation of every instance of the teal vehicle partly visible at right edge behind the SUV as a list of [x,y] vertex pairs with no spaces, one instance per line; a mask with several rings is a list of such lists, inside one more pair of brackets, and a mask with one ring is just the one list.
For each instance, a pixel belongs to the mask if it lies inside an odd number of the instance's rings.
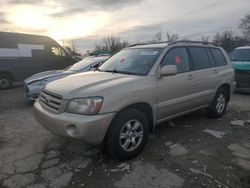
[[236,91],[250,92],[250,46],[236,48],[230,59],[235,69]]

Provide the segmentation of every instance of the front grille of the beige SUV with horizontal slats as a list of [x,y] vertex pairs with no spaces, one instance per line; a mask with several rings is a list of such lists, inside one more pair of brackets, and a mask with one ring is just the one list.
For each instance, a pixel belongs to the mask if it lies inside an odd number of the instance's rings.
[[54,112],[59,112],[62,96],[42,90],[39,99],[40,103],[42,103],[46,108]]

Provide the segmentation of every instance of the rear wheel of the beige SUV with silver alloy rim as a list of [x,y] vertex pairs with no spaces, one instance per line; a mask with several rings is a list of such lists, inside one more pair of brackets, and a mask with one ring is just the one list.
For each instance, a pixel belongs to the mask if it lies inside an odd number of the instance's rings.
[[224,88],[219,88],[215,94],[212,103],[207,109],[207,115],[210,118],[220,118],[226,111],[228,103],[228,93]]

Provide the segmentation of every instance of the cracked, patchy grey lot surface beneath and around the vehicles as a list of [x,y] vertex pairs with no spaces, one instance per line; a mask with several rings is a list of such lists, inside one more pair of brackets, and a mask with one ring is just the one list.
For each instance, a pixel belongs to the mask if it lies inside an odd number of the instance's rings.
[[221,119],[200,111],[158,126],[137,158],[120,162],[53,136],[22,92],[0,91],[0,187],[250,187],[250,95],[234,94]]

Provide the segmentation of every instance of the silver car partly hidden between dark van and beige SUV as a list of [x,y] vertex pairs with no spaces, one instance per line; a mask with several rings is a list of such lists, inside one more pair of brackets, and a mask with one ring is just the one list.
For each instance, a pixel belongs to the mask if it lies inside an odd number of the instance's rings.
[[33,102],[39,96],[41,88],[48,82],[71,74],[93,70],[108,58],[109,56],[86,57],[65,70],[50,70],[35,74],[24,80],[24,98],[27,102]]

